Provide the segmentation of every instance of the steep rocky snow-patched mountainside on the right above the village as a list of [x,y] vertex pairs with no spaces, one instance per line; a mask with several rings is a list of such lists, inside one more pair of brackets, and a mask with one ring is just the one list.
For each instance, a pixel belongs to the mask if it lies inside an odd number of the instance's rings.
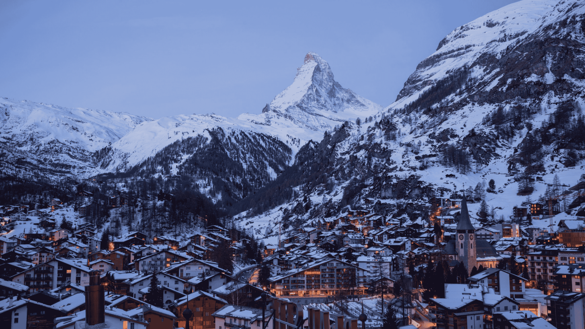
[[[584,50],[583,1],[524,0],[487,13],[449,33],[382,118],[303,146],[235,218],[263,235],[267,222],[294,227],[368,207],[369,197],[380,214],[426,219],[429,196],[461,197],[490,179],[497,191],[486,201],[508,218],[546,193],[541,183],[521,191],[522,177],[574,185],[585,170]],[[295,197],[279,203],[278,194]],[[272,203],[257,202],[269,195]],[[470,205],[473,217],[478,209]]]

